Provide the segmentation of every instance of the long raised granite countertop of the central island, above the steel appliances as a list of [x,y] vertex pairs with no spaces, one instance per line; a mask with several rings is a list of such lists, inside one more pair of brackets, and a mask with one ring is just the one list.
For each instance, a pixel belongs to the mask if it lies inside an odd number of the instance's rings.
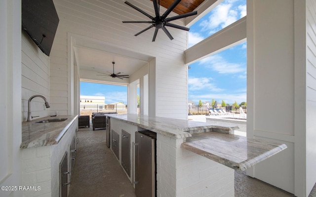
[[111,118],[141,127],[146,130],[154,131],[171,138],[191,137],[192,133],[217,131],[233,133],[238,127],[223,127],[212,125],[211,123],[188,121],[174,118],[150,117],[137,114],[105,114]]

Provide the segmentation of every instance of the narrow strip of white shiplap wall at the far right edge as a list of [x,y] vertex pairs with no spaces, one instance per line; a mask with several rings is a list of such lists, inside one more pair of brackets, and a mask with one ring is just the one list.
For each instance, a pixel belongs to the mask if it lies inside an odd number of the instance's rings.
[[316,1],[306,1],[306,194],[316,182]]

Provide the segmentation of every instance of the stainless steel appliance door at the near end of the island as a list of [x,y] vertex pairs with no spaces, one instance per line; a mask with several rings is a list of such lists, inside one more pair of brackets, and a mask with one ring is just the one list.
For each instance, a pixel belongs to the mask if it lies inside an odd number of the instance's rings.
[[155,139],[135,132],[135,193],[155,197]]

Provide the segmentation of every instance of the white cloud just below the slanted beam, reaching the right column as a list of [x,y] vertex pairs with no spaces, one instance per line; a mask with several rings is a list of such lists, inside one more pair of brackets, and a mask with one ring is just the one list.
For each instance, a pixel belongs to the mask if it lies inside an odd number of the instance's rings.
[[199,62],[199,64],[211,68],[212,70],[217,71],[221,74],[238,73],[245,71],[245,68],[242,67],[242,65],[237,63],[230,63],[218,54],[204,58]]

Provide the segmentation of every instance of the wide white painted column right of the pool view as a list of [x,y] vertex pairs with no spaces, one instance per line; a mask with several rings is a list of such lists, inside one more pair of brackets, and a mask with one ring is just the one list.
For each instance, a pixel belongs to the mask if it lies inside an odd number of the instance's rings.
[[288,147],[247,173],[298,197],[308,196],[305,18],[305,0],[247,0],[247,137]]

